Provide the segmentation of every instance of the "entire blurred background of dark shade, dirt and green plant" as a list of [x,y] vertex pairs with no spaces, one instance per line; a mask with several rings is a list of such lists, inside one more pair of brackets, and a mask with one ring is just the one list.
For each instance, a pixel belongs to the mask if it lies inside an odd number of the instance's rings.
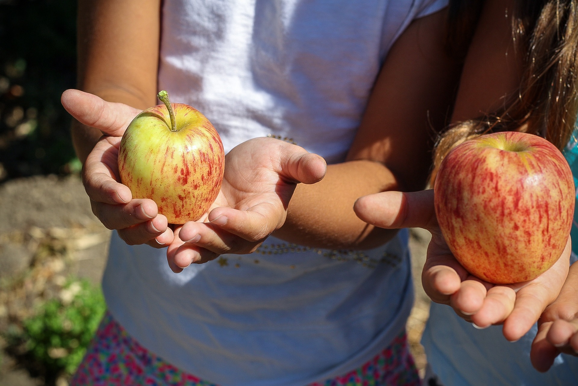
[[[0,386],[66,386],[105,305],[110,231],[91,212],[60,95],[75,87],[76,1],[0,0]],[[429,233],[412,229],[418,369]]]

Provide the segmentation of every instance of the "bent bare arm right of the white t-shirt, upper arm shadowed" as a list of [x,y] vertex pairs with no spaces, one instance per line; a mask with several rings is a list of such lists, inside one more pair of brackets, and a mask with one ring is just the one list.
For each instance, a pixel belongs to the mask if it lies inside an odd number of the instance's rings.
[[325,248],[371,248],[395,235],[353,211],[361,196],[425,188],[433,128],[446,123],[461,65],[444,50],[444,12],[414,21],[392,47],[346,162],[313,185],[297,185],[276,236]]

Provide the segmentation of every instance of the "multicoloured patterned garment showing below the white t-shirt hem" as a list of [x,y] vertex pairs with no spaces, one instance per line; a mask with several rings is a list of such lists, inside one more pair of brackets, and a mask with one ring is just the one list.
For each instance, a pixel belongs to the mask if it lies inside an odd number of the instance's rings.
[[[405,332],[361,368],[309,386],[418,386]],[[106,313],[72,386],[217,386],[183,372],[140,346]]]

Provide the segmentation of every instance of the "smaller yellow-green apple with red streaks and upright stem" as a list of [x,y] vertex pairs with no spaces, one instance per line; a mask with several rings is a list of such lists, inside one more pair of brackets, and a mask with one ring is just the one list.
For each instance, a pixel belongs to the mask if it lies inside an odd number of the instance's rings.
[[150,198],[169,224],[198,220],[217,198],[225,153],[216,129],[194,107],[164,103],[138,114],[118,150],[118,173],[133,198]]

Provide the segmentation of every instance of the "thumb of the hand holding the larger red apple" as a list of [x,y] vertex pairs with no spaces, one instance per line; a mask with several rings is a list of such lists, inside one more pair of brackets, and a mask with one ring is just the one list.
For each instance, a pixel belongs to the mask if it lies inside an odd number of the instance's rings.
[[438,224],[433,207],[433,190],[381,192],[360,197],[353,205],[361,220],[380,228],[424,228]]

